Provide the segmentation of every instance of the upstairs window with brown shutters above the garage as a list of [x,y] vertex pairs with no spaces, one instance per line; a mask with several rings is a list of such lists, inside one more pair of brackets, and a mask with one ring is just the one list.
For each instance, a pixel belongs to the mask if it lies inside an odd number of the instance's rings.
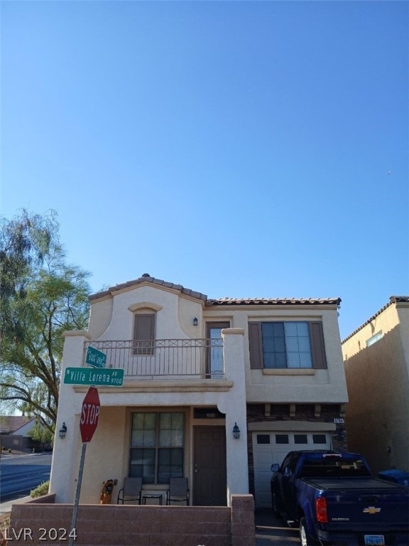
[[321,322],[250,322],[253,369],[327,368]]

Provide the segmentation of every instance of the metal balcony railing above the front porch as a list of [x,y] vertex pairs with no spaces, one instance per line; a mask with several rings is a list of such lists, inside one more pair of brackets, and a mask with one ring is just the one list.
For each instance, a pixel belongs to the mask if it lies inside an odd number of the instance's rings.
[[222,339],[86,341],[107,355],[106,368],[124,370],[126,379],[225,379]]

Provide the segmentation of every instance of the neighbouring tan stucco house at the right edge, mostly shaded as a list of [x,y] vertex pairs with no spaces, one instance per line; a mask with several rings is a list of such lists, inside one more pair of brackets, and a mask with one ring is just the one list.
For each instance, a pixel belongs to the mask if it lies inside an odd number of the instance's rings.
[[372,471],[409,471],[409,296],[391,296],[342,342],[348,444]]

